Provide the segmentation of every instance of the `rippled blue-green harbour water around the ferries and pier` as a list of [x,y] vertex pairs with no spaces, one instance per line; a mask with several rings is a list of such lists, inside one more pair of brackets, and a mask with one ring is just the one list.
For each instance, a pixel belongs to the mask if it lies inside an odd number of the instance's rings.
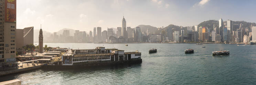
[[[83,44],[45,43],[48,47],[94,49],[97,46],[141,52],[142,63],[67,70],[33,70],[0,76],[0,82],[19,79],[24,85],[252,85],[256,82],[256,45],[236,44]],[[38,45],[38,44],[37,44]],[[205,46],[206,48],[201,48]],[[157,48],[157,53],[148,49]],[[185,49],[194,53],[185,54]],[[228,56],[212,56],[214,50]]]

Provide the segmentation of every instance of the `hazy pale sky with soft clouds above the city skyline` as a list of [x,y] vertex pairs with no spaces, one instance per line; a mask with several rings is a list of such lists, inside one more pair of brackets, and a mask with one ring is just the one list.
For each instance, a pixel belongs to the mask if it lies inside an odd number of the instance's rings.
[[256,22],[256,0],[17,0],[17,28],[34,26],[48,32],[63,28],[138,25],[193,26],[207,20]]

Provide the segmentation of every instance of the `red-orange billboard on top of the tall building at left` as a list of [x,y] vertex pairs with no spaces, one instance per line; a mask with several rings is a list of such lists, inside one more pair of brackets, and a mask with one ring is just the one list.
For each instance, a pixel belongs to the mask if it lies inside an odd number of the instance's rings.
[[4,0],[4,21],[16,23],[16,0]]

